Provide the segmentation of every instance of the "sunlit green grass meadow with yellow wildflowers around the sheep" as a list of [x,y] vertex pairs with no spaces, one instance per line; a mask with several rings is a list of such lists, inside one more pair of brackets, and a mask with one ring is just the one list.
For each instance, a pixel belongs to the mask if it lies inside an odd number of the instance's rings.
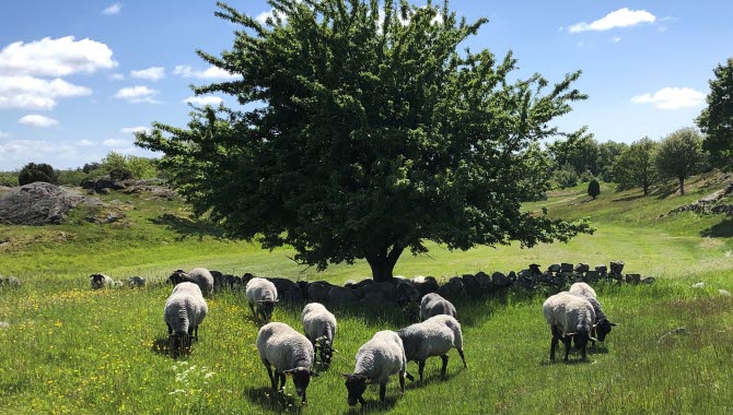
[[[641,198],[636,191],[602,189],[589,201],[584,187],[555,192],[550,214],[589,216],[597,227],[568,245],[477,248],[450,252],[431,245],[430,256],[405,256],[404,275],[451,276],[520,270],[531,262],[620,259],[628,272],[653,275],[651,286],[598,286],[608,317],[619,323],[589,360],[548,359],[549,330],[542,317],[545,297],[521,292],[456,304],[468,369],[450,354],[449,376],[440,359],[428,360],[427,381],[409,383],[404,396],[396,380],[387,405],[376,388],[365,393],[364,412],[414,414],[717,414],[733,408],[733,224],[730,217],[685,213],[660,215],[722,185],[691,180],[685,197],[664,189]],[[162,309],[170,287],[160,282],[176,268],[205,265],[224,272],[342,282],[366,276],[364,263],[336,265],[325,273],[304,270],[291,251],[263,251],[256,244],[218,238],[218,230],[187,218],[181,202],[113,192],[103,197],[127,217],[97,225],[77,212],[69,224],[0,226],[0,274],[16,275],[20,288],[0,288],[0,413],[231,414],[281,411],[351,412],[340,372],[371,335],[408,322],[399,315],[363,316],[336,310],[339,332],[334,365],[309,388],[301,407],[289,395],[269,395],[269,381],[254,342],[257,327],[243,296],[224,293],[209,300],[210,313],[190,356],[173,360]],[[126,203],[126,202],[130,203]],[[135,209],[132,209],[135,208]],[[182,234],[182,232],[184,234]],[[116,278],[142,275],[144,289],[89,289],[89,274]],[[705,289],[693,289],[702,281]],[[300,309],[280,307],[275,320],[300,329]],[[684,328],[677,332],[674,329]],[[414,363],[408,370],[417,372]],[[359,411],[357,407],[353,412]]]

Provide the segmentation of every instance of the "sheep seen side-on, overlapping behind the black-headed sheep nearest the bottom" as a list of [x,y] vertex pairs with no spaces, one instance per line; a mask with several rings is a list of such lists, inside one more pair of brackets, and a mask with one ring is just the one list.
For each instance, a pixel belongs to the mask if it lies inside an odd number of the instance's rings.
[[422,381],[426,359],[432,356],[440,356],[443,360],[440,376],[445,378],[447,352],[454,347],[458,351],[458,356],[463,360],[463,367],[468,367],[466,358],[463,355],[461,324],[451,316],[433,316],[421,323],[398,330],[397,335],[403,340],[407,361],[417,361],[420,381]]

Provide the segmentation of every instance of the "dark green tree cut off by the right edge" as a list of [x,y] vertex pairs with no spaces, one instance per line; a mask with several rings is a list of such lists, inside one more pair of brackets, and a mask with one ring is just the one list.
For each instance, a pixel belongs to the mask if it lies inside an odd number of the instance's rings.
[[733,58],[725,66],[719,64],[710,80],[708,107],[697,118],[697,124],[706,134],[702,150],[710,152],[714,167],[733,168]]

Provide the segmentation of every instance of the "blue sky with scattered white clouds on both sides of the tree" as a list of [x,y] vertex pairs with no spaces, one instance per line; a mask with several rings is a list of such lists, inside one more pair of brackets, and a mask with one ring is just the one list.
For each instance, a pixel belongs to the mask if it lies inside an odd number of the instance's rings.
[[[155,156],[133,132],[159,121],[184,127],[190,85],[233,79],[196,50],[231,47],[237,27],[210,0],[0,0],[0,171],[28,162],[80,167],[108,152]],[[424,4],[423,0],[412,0]],[[264,0],[231,0],[265,19]],[[440,2],[439,2],[440,3]],[[589,95],[557,120],[587,126],[600,142],[660,139],[694,126],[715,66],[733,56],[730,0],[453,0],[468,21],[488,17],[465,46],[512,50],[519,78],[550,82],[582,70]]]

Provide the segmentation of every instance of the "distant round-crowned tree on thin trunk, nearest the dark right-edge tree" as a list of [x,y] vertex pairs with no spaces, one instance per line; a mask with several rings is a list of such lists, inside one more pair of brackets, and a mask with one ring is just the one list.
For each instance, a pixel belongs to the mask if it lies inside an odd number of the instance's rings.
[[679,193],[685,194],[685,179],[699,173],[703,162],[702,138],[691,128],[682,128],[660,142],[654,164],[664,177],[679,180]]

